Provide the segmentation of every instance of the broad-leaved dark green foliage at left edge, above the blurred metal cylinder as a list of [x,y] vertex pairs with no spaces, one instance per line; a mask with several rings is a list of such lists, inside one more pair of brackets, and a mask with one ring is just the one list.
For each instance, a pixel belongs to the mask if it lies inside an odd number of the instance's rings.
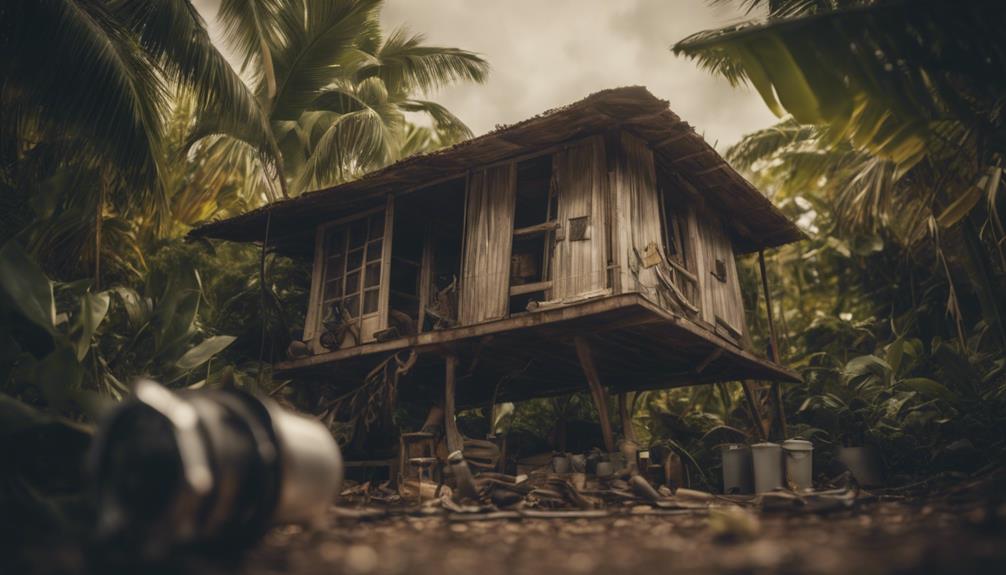
[[[3,390],[69,415],[94,414],[99,394],[120,398],[137,376],[168,383],[209,377],[210,359],[233,341],[198,322],[198,273],[179,266],[152,276],[145,294],[127,286],[51,282],[15,242],[0,249]],[[126,382],[126,383],[124,383]]]

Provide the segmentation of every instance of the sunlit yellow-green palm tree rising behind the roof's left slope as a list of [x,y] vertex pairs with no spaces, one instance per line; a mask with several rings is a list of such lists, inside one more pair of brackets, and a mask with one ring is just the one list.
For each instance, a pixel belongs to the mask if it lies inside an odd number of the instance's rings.
[[[219,18],[253,78],[293,193],[329,185],[401,156],[406,113],[432,119],[450,143],[471,136],[444,107],[416,94],[456,81],[482,82],[486,61],[457,48],[428,46],[399,29],[386,38],[380,0],[224,0]],[[261,149],[259,136],[229,119],[205,117],[192,141],[225,135]]]

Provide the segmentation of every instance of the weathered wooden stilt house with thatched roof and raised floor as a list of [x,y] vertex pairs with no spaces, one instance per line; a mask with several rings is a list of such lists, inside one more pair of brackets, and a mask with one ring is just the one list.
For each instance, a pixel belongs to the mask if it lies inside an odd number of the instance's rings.
[[439,400],[446,382],[449,413],[797,380],[751,349],[734,258],[801,232],[643,87],[192,235],[312,258],[310,354],[276,365],[288,377],[349,390],[393,356],[399,395]]

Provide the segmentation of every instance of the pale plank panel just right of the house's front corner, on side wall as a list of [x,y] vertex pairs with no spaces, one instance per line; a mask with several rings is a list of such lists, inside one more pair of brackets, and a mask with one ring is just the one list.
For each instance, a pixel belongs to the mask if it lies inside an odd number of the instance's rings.
[[[617,170],[618,226],[621,253],[617,254],[623,292],[639,292],[654,302],[657,275],[643,267],[639,255],[646,246],[661,245],[660,202],[653,152],[646,142],[622,133],[622,154]],[[639,255],[637,255],[637,253]]]

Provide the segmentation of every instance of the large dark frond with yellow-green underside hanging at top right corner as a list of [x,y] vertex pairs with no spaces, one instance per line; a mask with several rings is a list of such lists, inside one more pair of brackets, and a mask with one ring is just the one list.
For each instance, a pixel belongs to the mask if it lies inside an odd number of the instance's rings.
[[928,152],[934,122],[996,130],[986,109],[1006,82],[1003,24],[1002,3],[892,0],[701,32],[673,50],[903,173]]

